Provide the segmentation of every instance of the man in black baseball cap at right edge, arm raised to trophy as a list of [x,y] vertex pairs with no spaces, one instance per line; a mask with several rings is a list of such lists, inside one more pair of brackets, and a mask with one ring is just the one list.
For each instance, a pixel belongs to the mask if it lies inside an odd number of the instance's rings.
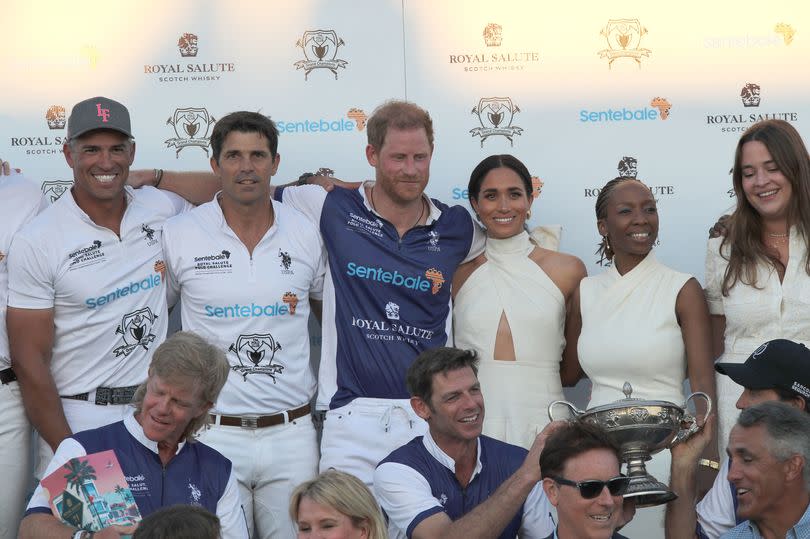
[[[717,363],[717,372],[743,387],[737,408],[781,401],[810,413],[810,350],[803,344],[775,339],[762,344],[744,363]],[[698,460],[711,438],[713,423],[672,451],[670,488],[679,496],[667,507],[667,539],[717,539],[746,519],[737,517],[737,488],[728,480],[729,459],[722,466]],[[720,469],[714,484],[695,506],[698,465]]]

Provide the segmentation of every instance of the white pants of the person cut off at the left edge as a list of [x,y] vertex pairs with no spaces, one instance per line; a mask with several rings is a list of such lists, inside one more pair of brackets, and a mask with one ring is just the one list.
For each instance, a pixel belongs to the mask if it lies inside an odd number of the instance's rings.
[[0,539],[13,539],[25,511],[25,498],[34,485],[31,425],[17,382],[0,384],[0,462],[3,463]]

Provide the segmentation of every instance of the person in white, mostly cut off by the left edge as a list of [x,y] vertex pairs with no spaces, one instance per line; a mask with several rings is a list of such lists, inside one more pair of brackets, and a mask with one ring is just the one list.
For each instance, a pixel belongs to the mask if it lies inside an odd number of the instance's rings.
[[25,417],[17,376],[11,369],[6,334],[8,265],[6,256],[17,231],[45,207],[37,185],[10,173],[0,159],[0,462],[3,463],[3,502],[0,539],[17,537],[17,526],[31,485],[31,425]]

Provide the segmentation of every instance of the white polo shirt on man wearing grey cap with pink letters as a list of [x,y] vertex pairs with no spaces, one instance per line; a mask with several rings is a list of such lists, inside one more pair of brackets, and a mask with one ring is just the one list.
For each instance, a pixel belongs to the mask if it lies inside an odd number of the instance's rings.
[[9,307],[54,309],[60,395],[140,384],[166,337],[161,232],[192,206],[152,187],[125,194],[120,238],[65,193],[20,230],[9,253]]

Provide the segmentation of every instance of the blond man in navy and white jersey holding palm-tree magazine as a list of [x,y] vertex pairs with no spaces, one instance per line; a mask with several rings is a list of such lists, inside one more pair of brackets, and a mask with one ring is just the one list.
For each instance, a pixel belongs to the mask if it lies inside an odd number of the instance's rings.
[[[70,459],[112,449],[142,516],[171,505],[198,505],[217,515],[224,539],[247,539],[231,461],[195,441],[229,371],[222,350],[194,333],[175,333],[155,350],[149,376],[124,420],[65,438],[46,475]],[[48,500],[47,491],[37,487],[20,526],[22,539],[92,537],[62,523]],[[131,533],[111,527],[95,537]]]

